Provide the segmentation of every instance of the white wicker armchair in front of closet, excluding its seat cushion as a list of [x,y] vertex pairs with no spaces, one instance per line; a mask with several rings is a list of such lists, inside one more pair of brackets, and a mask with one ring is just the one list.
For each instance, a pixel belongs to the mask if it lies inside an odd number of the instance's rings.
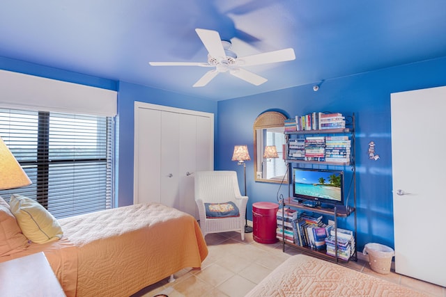
[[[232,201],[237,205],[240,216],[206,218],[205,203]],[[209,233],[237,231],[245,240],[245,212],[247,196],[240,194],[237,172],[226,170],[199,171],[195,175],[195,202],[200,216],[203,236]]]

